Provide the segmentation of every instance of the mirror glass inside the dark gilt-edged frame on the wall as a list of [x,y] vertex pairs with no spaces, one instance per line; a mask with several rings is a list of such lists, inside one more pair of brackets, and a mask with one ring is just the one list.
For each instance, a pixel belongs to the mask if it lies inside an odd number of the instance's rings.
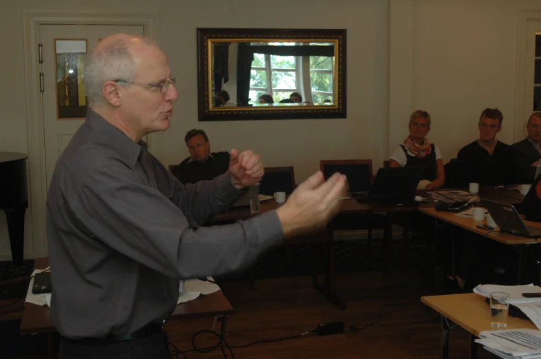
[[335,43],[213,40],[209,103],[213,110],[333,107],[337,88]]

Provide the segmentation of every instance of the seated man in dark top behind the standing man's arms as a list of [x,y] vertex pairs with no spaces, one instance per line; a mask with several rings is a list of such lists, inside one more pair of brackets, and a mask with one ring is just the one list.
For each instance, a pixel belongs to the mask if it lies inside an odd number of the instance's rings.
[[190,130],[184,137],[190,150],[190,157],[180,163],[175,170],[175,176],[180,183],[196,183],[211,180],[227,172],[229,168],[229,153],[210,153],[210,142],[203,130]]

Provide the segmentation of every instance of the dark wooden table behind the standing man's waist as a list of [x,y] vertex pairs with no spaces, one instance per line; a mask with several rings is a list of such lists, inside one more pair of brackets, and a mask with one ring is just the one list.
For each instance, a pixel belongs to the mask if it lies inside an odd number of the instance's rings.
[[[48,258],[37,258],[34,267],[35,269],[45,269],[48,265]],[[46,305],[41,306],[26,302],[24,304],[20,330],[21,334],[48,334],[49,355],[50,358],[56,358],[52,334],[57,329],[49,319],[49,310],[49,307]],[[215,291],[207,296],[201,295],[195,300],[177,305],[175,311],[170,316],[170,320],[201,316],[225,316],[227,314],[233,314],[233,307],[222,291]]]

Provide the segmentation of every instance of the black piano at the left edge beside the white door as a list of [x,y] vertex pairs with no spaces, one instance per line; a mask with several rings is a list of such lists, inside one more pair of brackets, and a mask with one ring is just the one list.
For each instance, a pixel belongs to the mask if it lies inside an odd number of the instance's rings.
[[0,209],[6,212],[14,265],[23,263],[24,214],[28,208],[26,154],[0,152]]

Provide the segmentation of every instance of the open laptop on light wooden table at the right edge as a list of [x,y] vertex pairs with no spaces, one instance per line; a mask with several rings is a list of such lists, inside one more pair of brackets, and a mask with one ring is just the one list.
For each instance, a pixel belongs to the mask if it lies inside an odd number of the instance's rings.
[[486,199],[482,203],[489,210],[494,222],[500,227],[501,232],[529,238],[541,238],[541,228],[524,223],[515,206]]

